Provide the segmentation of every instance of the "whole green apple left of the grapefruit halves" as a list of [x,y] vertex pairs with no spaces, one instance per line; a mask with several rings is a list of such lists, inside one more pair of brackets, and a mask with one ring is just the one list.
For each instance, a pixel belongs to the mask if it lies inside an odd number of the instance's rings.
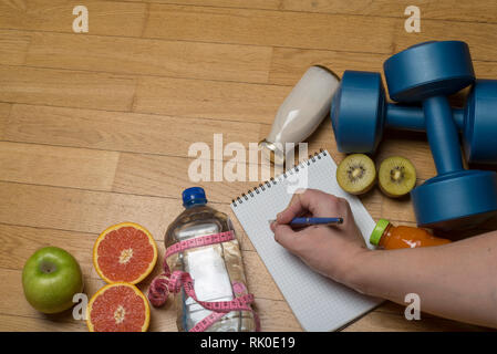
[[28,302],[38,311],[56,313],[73,305],[73,295],[83,291],[77,261],[58,247],[39,249],[22,270],[22,287]]

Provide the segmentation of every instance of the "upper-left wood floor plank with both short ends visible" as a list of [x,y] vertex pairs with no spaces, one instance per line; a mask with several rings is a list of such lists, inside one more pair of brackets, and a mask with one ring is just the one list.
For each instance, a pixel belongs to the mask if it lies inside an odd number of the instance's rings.
[[37,32],[27,65],[266,83],[271,52],[269,46]]

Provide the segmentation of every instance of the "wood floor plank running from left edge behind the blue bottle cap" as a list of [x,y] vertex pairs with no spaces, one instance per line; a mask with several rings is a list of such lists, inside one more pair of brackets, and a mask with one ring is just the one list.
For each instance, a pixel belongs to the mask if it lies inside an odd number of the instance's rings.
[[[0,181],[0,197],[3,200],[0,222],[100,233],[110,225],[134,221],[146,227],[158,240],[164,239],[167,226],[184,210],[176,198],[4,181]],[[214,208],[231,218],[241,248],[253,250],[229,205],[215,204]]]

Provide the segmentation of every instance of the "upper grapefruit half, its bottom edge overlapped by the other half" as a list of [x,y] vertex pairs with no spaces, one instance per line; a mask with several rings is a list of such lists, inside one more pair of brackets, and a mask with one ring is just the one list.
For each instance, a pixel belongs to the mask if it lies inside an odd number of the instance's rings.
[[107,283],[136,284],[152,272],[156,261],[155,240],[147,229],[134,222],[111,226],[93,247],[93,266]]

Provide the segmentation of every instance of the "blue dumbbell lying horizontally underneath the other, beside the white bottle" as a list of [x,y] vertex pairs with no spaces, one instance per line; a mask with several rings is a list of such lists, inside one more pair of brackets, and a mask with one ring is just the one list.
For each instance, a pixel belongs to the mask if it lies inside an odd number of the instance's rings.
[[[346,154],[373,154],[385,127],[425,129],[421,107],[386,103],[380,73],[345,71],[331,107],[336,145]],[[497,164],[497,81],[477,80],[465,108],[452,112],[462,132],[466,159]]]

